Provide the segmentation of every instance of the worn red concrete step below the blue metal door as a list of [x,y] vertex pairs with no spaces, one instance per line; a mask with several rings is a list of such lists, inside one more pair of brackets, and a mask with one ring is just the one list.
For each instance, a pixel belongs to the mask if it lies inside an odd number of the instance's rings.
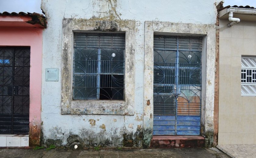
[[151,148],[201,148],[204,147],[202,136],[153,136]]

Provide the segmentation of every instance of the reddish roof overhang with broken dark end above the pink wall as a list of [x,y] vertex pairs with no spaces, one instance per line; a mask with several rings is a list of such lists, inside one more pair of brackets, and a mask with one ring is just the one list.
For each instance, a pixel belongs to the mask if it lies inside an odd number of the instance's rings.
[[0,13],[0,27],[40,27],[46,28],[45,17],[38,13]]

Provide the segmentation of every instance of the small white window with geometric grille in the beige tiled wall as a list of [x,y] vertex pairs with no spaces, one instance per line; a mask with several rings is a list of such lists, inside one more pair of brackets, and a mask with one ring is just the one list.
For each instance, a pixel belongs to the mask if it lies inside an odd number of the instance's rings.
[[241,59],[241,94],[256,95],[256,58],[242,57]]

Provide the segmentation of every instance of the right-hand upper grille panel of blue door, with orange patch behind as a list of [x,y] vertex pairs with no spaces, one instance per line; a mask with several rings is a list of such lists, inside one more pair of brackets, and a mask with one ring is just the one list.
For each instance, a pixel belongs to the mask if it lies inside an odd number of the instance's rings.
[[201,37],[178,38],[178,82],[180,94],[177,115],[201,115]]

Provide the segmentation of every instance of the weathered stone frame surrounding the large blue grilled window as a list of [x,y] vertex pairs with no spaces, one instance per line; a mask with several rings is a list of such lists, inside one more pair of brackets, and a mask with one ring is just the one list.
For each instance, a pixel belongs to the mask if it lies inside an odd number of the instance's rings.
[[[126,20],[62,20],[61,114],[134,115],[134,45],[135,21]],[[73,100],[73,33],[125,33],[124,101]]]

